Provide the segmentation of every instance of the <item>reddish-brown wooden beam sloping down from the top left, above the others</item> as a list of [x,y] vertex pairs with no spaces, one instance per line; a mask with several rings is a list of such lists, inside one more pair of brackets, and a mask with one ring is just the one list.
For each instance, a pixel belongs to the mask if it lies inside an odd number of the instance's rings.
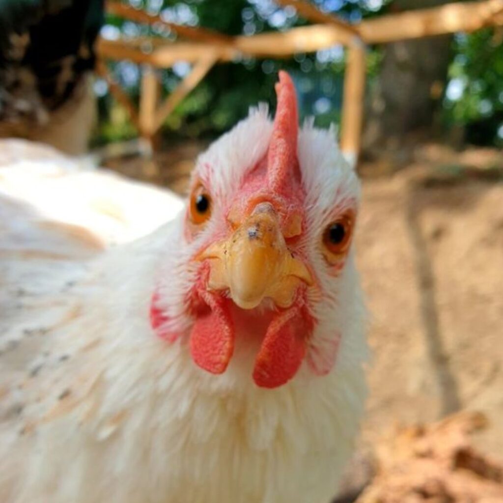
[[153,25],[160,23],[167,26],[170,30],[173,30],[179,36],[184,38],[189,38],[199,42],[210,42],[213,44],[226,44],[232,40],[232,37],[227,35],[222,35],[220,33],[207,30],[205,28],[194,28],[192,26],[182,26],[176,23],[170,23],[169,21],[164,21],[160,16],[148,14],[145,11],[134,9],[125,4],[121,4],[117,1],[108,1],[106,3],[106,10],[109,14],[113,14],[120,18],[129,19],[136,23]]

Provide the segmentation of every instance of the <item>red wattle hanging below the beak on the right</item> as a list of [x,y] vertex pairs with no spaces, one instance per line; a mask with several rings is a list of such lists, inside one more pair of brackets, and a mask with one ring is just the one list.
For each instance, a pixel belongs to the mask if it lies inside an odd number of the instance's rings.
[[308,331],[308,323],[297,307],[273,318],[255,361],[253,378],[258,386],[275,388],[296,374],[306,353]]

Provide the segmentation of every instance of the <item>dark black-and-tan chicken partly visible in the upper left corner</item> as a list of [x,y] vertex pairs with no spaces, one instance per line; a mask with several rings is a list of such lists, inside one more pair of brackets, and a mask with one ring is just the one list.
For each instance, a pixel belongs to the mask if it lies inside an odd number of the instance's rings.
[[103,0],[0,0],[0,136],[87,150]]

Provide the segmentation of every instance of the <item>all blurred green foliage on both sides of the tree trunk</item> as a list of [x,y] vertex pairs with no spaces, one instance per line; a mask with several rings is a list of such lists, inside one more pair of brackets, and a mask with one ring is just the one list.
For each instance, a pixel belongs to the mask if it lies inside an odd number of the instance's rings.
[[[293,8],[279,8],[273,0],[128,1],[136,8],[160,13],[167,20],[203,26],[229,35],[284,31],[306,24],[297,17]],[[315,3],[320,9],[352,22],[380,15],[392,7],[390,0],[315,0]],[[103,34],[109,37],[123,34],[176,38],[164,27],[139,26],[113,16],[108,17]],[[498,141],[498,130],[503,136],[503,47],[500,38],[500,32],[491,30],[455,38],[450,82],[444,100],[445,117],[448,125],[466,126],[470,141]],[[330,122],[339,123],[344,59],[342,47],[333,46],[315,54],[296,54],[291,59],[243,57],[240,61],[219,64],[166,119],[164,133],[182,137],[213,136],[244,117],[249,106],[260,101],[274,104],[273,84],[280,68],[288,69],[300,90],[301,118],[314,115],[316,123],[322,126]],[[379,71],[381,49],[371,48],[367,59],[371,83]],[[190,66],[179,62],[172,69],[160,72],[164,96],[178,85],[188,71]],[[140,72],[136,65],[122,61],[115,65],[115,72],[137,100]],[[101,112],[106,118],[100,131],[102,139],[118,139],[133,134],[130,125],[121,123],[123,116],[110,113],[111,108],[117,105],[113,105],[106,96],[104,83],[98,82],[97,86],[101,86],[98,94],[103,95]],[[477,131],[484,133],[477,134]]]

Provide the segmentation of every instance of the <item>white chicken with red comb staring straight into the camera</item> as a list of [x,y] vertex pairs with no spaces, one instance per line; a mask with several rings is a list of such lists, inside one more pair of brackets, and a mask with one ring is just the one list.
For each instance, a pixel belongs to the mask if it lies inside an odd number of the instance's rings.
[[152,233],[77,254],[39,226],[28,253],[32,218],[2,240],[0,500],[336,493],[366,395],[360,187],[279,77],[274,121],[214,142]]

